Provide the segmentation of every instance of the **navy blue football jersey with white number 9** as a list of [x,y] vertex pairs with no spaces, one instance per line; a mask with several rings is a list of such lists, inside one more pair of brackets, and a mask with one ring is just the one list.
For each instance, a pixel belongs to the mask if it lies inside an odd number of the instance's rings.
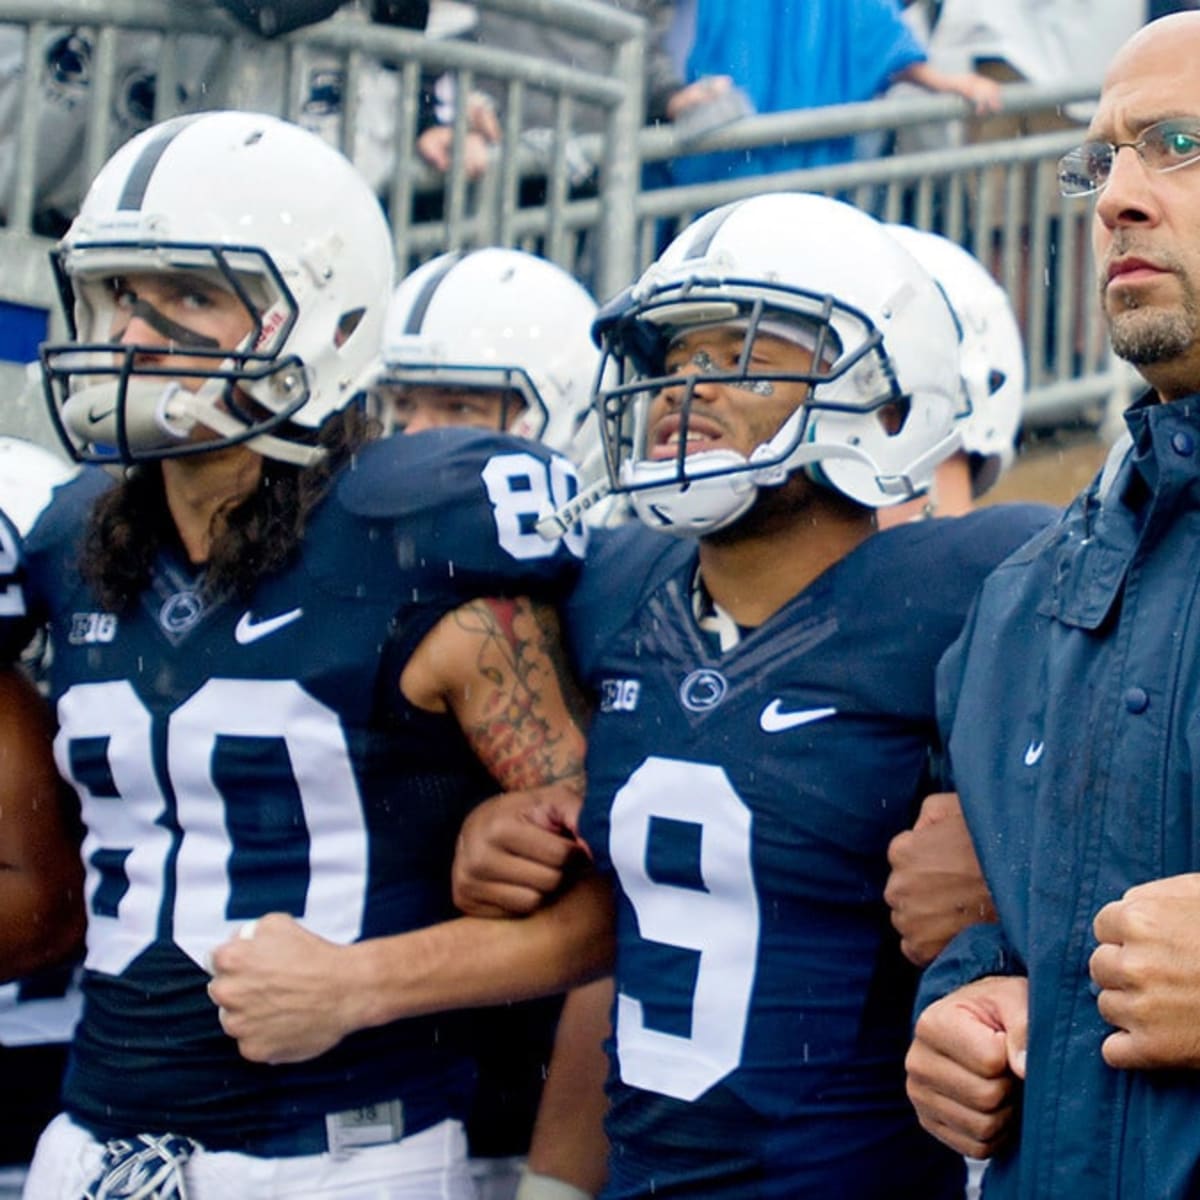
[[887,846],[928,782],[937,660],[1048,516],[880,533],[724,653],[694,544],[619,532],[589,557],[570,624],[596,703],[582,832],[618,898],[606,1196],[961,1195],[905,1096]]

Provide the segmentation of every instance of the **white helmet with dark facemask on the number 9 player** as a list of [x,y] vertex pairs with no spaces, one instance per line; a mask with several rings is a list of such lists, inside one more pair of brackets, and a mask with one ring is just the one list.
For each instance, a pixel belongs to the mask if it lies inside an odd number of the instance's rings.
[[[664,378],[664,354],[688,329],[736,324],[745,343],[733,372]],[[757,332],[804,331],[812,366],[764,376],[751,364]],[[730,524],[760,487],[806,470],[871,508],[925,491],[959,445],[958,330],[928,272],[882,224],[808,193],[756,196],[692,222],[629,290],[601,311],[595,336],[620,383],[598,397],[614,491],[648,524],[704,534]],[[802,404],[749,456],[686,454],[698,382],[788,379]],[[664,386],[684,392],[679,454],[653,460],[647,413]],[[744,384],[743,384],[744,385]],[[899,413],[899,425],[881,419]]]

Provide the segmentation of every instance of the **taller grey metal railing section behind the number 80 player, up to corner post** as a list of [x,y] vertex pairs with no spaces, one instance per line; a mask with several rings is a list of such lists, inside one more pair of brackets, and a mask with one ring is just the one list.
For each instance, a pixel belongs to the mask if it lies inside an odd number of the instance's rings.
[[[643,23],[598,0],[480,0],[478,7],[553,22],[605,53],[590,68],[548,62],[374,24],[353,5],[264,41],[209,0],[0,0],[0,305],[44,313],[48,331],[60,336],[47,251],[86,181],[138,128],[222,107],[276,113],[346,150],[373,176],[402,269],[446,248],[520,245],[580,274],[586,252],[594,290],[624,286],[636,266],[630,221],[640,184]],[[422,86],[439,76],[460,96],[485,80],[500,96],[500,139],[479,181],[467,178],[458,152],[444,175],[413,152]],[[534,96],[553,112],[536,150],[521,121]],[[602,203],[581,212],[572,155],[587,113],[600,114],[589,194]],[[454,121],[461,146],[464,106]],[[530,178],[545,192],[536,204],[523,193]],[[12,320],[16,310],[7,311]],[[0,364],[0,388],[23,386],[23,368]]]

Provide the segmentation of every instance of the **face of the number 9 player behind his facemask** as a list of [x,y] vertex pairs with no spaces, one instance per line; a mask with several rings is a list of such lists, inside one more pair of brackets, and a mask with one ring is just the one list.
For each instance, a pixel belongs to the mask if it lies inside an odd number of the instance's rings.
[[[713,372],[737,371],[745,343],[740,329],[720,326],[682,334],[667,350],[665,373],[703,377]],[[688,439],[686,454],[727,449],[749,455],[769,442],[784,421],[804,403],[809,385],[770,378],[803,374],[812,366],[809,350],[794,342],[760,334],[750,352],[746,378],[713,382],[697,378],[686,419],[682,408],[686,385],[664,388],[650,404],[648,456],[673,458],[679,439]]]

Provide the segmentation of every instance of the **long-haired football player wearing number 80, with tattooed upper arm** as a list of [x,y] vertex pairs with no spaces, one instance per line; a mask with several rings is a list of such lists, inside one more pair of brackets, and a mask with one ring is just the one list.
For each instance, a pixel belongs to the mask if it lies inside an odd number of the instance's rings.
[[[128,142],[55,252],[50,415],[121,474],[55,493],[0,622],[10,660],[49,630],[84,826],[84,1009],[32,1195],[472,1194],[472,1068],[420,979],[380,1016],[355,956],[338,996],[371,1028],[265,1066],[209,973],[263,917],[350,949],[413,938],[463,1003],[529,986],[491,970],[497,923],[451,919],[449,866],[481,797],[580,786],[551,602],[586,535],[532,529],[575,472],[499,434],[373,438],[391,259],[354,168],[252,113]],[[544,944],[522,932],[535,984],[556,947],[605,955],[580,894]]]

